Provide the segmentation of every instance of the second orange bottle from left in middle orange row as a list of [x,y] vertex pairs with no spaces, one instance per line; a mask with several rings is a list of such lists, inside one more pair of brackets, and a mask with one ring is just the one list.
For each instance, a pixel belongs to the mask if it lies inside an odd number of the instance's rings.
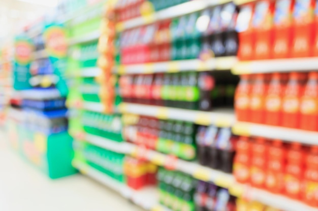
[[250,121],[265,123],[265,95],[268,90],[270,74],[257,74],[250,94]]

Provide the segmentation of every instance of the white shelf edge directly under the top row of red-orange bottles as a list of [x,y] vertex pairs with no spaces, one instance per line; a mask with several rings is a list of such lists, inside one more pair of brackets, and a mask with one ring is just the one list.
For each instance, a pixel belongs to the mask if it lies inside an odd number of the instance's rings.
[[232,68],[233,74],[238,75],[310,70],[318,70],[318,57],[244,61]]

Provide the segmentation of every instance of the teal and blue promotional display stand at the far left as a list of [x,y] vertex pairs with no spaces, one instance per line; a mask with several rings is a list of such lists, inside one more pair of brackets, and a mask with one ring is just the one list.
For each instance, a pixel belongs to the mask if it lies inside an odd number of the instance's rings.
[[24,158],[56,179],[76,173],[65,106],[66,37],[55,23],[33,28],[39,28],[36,36],[26,30],[16,38],[9,136]]

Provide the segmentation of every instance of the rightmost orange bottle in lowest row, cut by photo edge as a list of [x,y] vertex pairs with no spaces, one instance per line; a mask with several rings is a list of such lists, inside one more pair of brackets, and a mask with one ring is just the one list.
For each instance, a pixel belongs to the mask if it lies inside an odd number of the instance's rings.
[[312,146],[306,157],[304,201],[318,207],[318,146]]

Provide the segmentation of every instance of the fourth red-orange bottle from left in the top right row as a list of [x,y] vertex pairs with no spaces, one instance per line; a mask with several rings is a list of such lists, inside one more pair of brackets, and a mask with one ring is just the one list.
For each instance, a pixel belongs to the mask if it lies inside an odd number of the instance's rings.
[[312,56],[315,0],[295,0],[292,57]]

